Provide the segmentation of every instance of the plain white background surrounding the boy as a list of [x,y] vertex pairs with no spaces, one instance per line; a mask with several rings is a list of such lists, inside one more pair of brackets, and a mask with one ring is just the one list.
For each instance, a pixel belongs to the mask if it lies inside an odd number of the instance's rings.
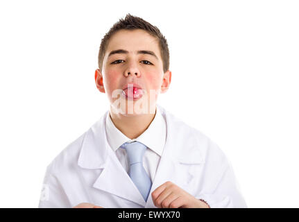
[[299,207],[298,1],[1,1],[0,207],[37,207],[46,166],[108,110],[101,38],[127,13],[169,42],[158,103],[218,144],[248,207]]

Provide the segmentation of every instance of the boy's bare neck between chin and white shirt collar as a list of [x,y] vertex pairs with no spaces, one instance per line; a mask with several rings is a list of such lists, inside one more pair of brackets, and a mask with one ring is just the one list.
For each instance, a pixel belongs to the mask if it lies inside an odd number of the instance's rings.
[[121,131],[126,137],[130,139],[136,139],[139,135],[142,135],[144,131],[150,126],[151,122],[155,118],[157,108],[154,114],[139,114],[135,116],[125,116],[123,114],[116,114],[111,112],[110,117],[114,126]]

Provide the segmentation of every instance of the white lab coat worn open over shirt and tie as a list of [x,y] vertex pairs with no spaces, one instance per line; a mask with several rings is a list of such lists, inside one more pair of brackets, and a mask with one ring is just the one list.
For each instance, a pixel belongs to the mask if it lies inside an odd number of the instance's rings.
[[69,144],[49,164],[39,207],[155,207],[151,193],[171,181],[210,207],[247,207],[223,151],[159,105],[166,119],[166,144],[145,202],[108,146],[105,118]]

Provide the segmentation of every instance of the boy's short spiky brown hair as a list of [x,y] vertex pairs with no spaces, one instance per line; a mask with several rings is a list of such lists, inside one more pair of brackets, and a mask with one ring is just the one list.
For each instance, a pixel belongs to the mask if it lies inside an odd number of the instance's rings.
[[144,21],[144,19],[140,17],[136,17],[130,14],[127,14],[125,19],[119,19],[119,22],[115,23],[112,28],[105,34],[101,41],[101,46],[99,50],[98,62],[99,69],[102,71],[103,68],[103,58],[105,56],[105,51],[108,46],[108,42],[110,37],[117,31],[121,29],[133,30],[133,29],[142,29],[146,31],[148,34],[156,37],[159,42],[161,58],[163,62],[163,71],[166,72],[169,69],[169,49],[166,38],[160,32],[159,28],[153,26],[152,24]]

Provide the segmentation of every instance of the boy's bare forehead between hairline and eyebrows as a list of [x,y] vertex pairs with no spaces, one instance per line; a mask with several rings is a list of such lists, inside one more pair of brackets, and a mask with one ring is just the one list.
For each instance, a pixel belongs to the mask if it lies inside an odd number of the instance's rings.
[[129,51],[129,53],[134,53],[139,50],[153,51],[158,58],[160,58],[160,48],[157,38],[141,29],[120,30],[114,33],[108,42],[105,56],[107,56],[110,51],[117,49],[124,49]]

